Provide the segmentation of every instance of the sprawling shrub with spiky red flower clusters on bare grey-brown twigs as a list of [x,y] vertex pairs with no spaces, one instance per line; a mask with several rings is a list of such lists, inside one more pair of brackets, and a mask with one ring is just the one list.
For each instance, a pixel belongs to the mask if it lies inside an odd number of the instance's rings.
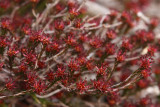
[[[0,1],[2,102],[23,96],[42,105],[58,99],[64,106],[80,95],[110,106],[158,107],[149,97],[127,100],[160,74],[159,20],[146,21],[142,13],[149,0],[97,16],[88,14],[86,2]],[[145,29],[136,29],[140,22]]]

